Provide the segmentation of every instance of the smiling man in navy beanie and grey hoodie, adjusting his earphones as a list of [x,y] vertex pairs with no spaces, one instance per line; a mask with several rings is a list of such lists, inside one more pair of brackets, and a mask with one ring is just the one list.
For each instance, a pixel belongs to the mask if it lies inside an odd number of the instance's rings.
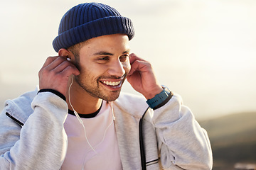
[[[65,13],[39,90],[6,101],[0,115],[1,169],[211,169],[206,131],[129,54],[133,36],[110,6]],[[125,79],[144,98],[120,94]]]

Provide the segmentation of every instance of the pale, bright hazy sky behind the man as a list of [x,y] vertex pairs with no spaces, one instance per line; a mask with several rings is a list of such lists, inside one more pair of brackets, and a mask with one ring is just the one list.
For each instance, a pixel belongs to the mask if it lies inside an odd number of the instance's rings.
[[[63,14],[78,0],[0,0],[0,108],[31,91],[55,56]],[[88,1],[87,1],[88,2]],[[105,0],[132,19],[132,52],[198,120],[256,111],[255,0]],[[123,91],[138,94],[125,83]],[[140,95],[140,94],[138,94]]]

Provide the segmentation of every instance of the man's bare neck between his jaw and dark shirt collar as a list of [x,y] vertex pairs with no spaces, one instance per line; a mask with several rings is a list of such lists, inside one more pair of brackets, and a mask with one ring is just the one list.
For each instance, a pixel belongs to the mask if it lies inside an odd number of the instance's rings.
[[[92,97],[75,81],[73,81],[73,84],[70,87],[70,91],[69,87],[70,84],[68,85],[68,90],[66,94],[68,109],[70,109],[71,111],[75,109],[75,111],[80,114],[95,113],[98,109],[100,109],[100,106],[102,104],[101,98]],[[71,107],[70,103],[74,109]]]

